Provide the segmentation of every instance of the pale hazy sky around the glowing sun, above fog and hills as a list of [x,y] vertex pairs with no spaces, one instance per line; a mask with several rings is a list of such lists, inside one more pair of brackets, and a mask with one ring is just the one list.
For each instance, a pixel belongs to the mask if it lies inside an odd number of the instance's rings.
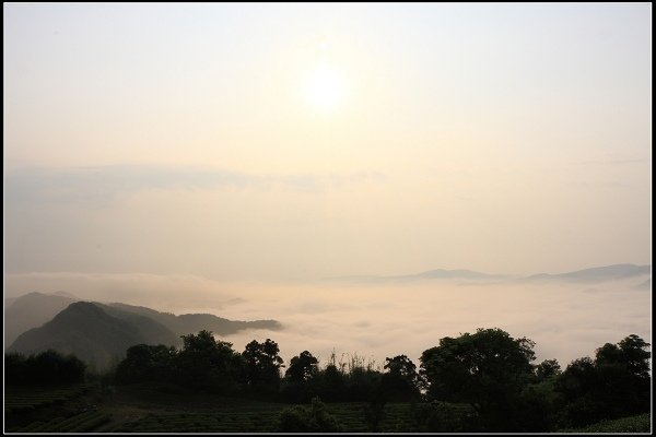
[[3,40],[7,273],[651,263],[649,3],[5,3]]

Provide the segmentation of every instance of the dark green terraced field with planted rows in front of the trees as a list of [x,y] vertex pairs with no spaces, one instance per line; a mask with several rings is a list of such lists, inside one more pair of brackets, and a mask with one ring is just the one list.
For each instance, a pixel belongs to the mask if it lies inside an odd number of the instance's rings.
[[[97,395],[96,385],[50,389],[5,388],[5,427],[10,433],[276,433],[284,403],[222,398],[202,393],[155,390],[148,386],[121,388],[101,403],[86,405]],[[91,393],[90,393],[91,392]],[[467,414],[469,406],[454,405]],[[326,403],[326,411],[343,433],[371,433],[366,403]],[[461,410],[461,411],[460,411]],[[419,433],[408,403],[385,405],[378,432]],[[20,420],[15,420],[20,418]],[[649,433],[651,415],[605,421],[561,433]]]

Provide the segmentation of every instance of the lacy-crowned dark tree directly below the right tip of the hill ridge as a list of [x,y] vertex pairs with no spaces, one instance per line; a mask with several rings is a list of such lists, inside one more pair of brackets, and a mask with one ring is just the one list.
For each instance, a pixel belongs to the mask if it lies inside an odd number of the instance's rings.
[[245,361],[245,380],[248,386],[276,386],[280,382],[283,366],[278,343],[267,339],[263,343],[251,341],[242,353]]

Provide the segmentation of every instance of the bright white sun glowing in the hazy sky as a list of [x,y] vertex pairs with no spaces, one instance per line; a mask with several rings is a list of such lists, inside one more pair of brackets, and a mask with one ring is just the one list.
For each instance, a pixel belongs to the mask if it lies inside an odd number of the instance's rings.
[[305,96],[319,109],[335,109],[345,96],[343,73],[332,66],[318,66],[307,75]]

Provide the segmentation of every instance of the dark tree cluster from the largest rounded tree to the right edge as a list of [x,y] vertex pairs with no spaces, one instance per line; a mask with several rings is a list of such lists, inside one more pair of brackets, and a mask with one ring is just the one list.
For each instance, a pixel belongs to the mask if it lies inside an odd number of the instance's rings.
[[535,343],[500,329],[445,338],[421,356],[426,398],[465,402],[478,430],[553,430],[651,409],[649,344],[629,335],[595,358],[532,365]]

